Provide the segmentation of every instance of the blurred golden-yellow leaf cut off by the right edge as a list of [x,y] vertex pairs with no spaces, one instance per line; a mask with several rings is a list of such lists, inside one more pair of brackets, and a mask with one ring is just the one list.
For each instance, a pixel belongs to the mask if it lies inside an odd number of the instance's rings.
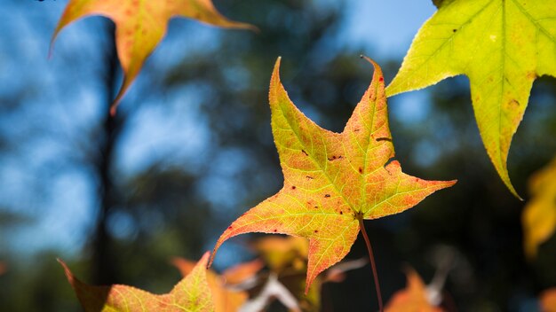
[[523,244],[529,259],[556,230],[556,159],[529,179],[532,198],[523,210]]

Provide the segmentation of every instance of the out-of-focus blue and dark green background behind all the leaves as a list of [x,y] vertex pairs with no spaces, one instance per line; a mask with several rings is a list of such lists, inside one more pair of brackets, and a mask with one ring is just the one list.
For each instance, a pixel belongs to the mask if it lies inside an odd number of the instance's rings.
[[[56,258],[91,284],[167,292],[173,256],[199,259],[234,219],[282,186],[267,90],[282,56],[290,98],[340,131],[375,58],[393,78],[431,1],[215,0],[259,33],[174,19],[114,119],[121,82],[114,25],[53,29],[67,1],[0,8],[0,310],[79,311]],[[512,182],[556,154],[556,82],[535,82],[512,144]],[[526,261],[524,203],[504,188],[481,144],[469,84],[456,77],[389,99],[396,159],[426,179],[458,179],[404,214],[366,222],[385,300],[404,266],[429,282],[452,259],[445,298],[460,311],[535,311],[556,285],[556,238]],[[215,268],[253,259],[249,236],[226,242]],[[366,255],[358,239],[348,259]],[[377,309],[369,266],[327,285],[327,311]],[[275,310],[283,310],[275,306]]]

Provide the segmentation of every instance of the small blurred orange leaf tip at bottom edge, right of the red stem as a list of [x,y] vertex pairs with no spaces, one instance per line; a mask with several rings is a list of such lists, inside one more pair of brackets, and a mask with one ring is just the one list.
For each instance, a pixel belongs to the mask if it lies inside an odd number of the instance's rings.
[[393,294],[385,312],[441,312],[441,308],[434,307],[427,299],[426,285],[417,272],[409,269],[407,276],[408,285]]

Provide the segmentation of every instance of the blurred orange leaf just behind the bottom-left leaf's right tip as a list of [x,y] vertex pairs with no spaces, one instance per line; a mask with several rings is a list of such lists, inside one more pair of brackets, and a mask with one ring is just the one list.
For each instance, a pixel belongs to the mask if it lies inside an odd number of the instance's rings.
[[[187,277],[195,269],[195,262],[187,261],[186,259],[175,258],[172,260],[172,263],[184,277]],[[248,299],[247,292],[234,290],[230,286],[239,285],[255,277],[255,274],[262,268],[263,262],[255,260],[226,269],[222,275],[218,275],[211,269],[207,270],[207,281],[214,299],[215,311],[234,312],[242,307],[243,303]]]

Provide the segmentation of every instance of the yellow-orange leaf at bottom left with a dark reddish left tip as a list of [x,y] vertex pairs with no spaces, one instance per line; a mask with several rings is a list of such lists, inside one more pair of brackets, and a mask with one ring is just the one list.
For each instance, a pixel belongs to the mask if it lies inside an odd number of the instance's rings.
[[155,295],[127,285],[86,285],[74,277],[66,263],[59,261],[86,312],[209,312],[214,311],[214,304],[206,277],[205,267],[208,259],[209,253],[205,253],[191,273],[175,285],[171,292],[163,295]]

